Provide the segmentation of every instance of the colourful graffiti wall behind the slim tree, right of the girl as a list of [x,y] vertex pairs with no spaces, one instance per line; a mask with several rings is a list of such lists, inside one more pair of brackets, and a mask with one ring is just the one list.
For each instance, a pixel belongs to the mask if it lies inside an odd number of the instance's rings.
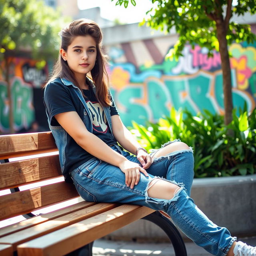
[[[169,40],[168,40],[169,39]],[[222,72],[219,52],[187,45],[176,60],[164,56],[173,38],[156,38],[111,45],[111,91],[126,126],[131,120],[144,124],[169,115],[170,108],[187,108],[193,114],[204,109],[224,114]],[[232,97],[234,107],[255,108],[256,44],[232,44]]]

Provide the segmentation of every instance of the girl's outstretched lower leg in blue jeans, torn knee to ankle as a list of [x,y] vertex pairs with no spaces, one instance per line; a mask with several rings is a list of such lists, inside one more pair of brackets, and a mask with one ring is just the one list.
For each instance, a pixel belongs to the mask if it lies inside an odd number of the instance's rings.
[[[211,222],[177,184],[157,178],[150,182],[146,198],[151,208],[157,202],[163,203],[164,211],[171,216],[174,224],[212,255],[226,255],[236,240],[226,228]],[[229,253],[233,256],[232,251]]]

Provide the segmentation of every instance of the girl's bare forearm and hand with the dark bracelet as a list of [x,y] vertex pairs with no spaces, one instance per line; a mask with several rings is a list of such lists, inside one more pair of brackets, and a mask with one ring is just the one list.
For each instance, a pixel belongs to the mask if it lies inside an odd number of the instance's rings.
[[[141,146],[131,132],[124,126],[120,116],[111,116],[111,121],[115,139],[124,149],[136,155],[137,148]],[[144,169],[147,169],[152,163],[152,158],[144,150],[138,150],[137,158]]]

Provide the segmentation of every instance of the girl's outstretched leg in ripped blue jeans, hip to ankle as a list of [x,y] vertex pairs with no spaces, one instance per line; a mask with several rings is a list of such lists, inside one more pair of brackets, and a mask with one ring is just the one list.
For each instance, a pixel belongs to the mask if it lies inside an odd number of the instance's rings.
[[[192,154],[192,152],[181,154],[180,151],[155,158],[155,164],[153,163],[152,166],[160,168],[174,163],[174,166],[178,167],[176,164],[178,156]],[[126,156],[128,157],[127,154]],[[176,159],[174,156],[177,156]],[[141,174],[140,182],[131,189],[125,185],[124,173],[118,167],[97,158],[76,168],[71,172],[71,176],[78,193],[85,200],[139,204],[167,212],[184,234],[213,255],[226,255],[236,240],[230,236],[226,228],[220,228],[208,220],[185,192],[184,186],[175,181]]]

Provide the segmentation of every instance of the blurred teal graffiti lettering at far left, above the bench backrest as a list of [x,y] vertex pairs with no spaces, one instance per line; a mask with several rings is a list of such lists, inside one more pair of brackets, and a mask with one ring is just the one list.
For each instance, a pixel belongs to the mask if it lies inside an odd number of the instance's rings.
[[[34,120],[34,108],[32,106],[33,91],[29,84],[25,84],[21,78],[14,77],[11,80],[11,93],[13,102],[14,129],[28,128]],[[6,82],[0,81],[0,130],[9,130],[9,107]]]

